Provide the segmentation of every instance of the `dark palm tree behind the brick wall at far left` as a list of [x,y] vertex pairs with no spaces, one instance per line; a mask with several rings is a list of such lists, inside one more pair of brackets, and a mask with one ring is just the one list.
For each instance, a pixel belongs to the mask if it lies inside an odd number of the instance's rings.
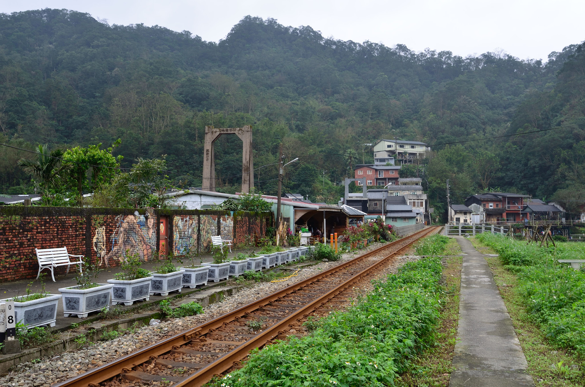
[[47,144],[39,145],[36,160],[21,158],[18,165],[33,177],[40,179],[42,183],[43,196],[48,195],[49,189],[56,184],[61,172],[67,170],[68,163],[61,163],[63,150],[55,149],[49,152]]

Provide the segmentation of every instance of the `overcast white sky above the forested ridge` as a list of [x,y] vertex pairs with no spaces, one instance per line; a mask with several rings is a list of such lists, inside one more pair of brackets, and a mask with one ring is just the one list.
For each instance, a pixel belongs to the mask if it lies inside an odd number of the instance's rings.
[[585,40],[583,0],[0,0],[0,12],[40,8],[88,12],[110,24],[189,30],[215,42],[246,15],[308,25],[336,39],[460,56],[503,49],[521,59],[546,60],[550,51]]

